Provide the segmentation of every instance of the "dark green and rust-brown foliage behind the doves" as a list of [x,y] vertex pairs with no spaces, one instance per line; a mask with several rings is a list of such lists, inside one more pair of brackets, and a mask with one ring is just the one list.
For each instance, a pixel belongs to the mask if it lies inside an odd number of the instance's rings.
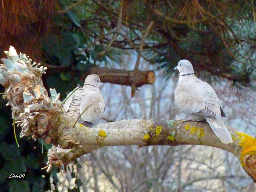
[[[188,59],[203,78],[228,79],[238,91],[255,87],[254,0],[20,0],[2,1],[0,11],[1,57],[13,45],[47,66],[45,86],[62,98],[90,67],[128,69],[127,55],[140,55],[166,78]],[[0,188],[49,189],[50,175],[40,169],[50,146],[22,138],[18,148],[5,104],[0,99]],[[8,179],[11,173],[25,178]]]

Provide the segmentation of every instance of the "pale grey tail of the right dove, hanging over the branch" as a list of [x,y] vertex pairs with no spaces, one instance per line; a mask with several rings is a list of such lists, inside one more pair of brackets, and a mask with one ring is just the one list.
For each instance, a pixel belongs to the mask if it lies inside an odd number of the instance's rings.
[[216,117],[206,117],[210,127],[215,132],[215,134],[218,136],[219,140],[224,143],[233,143],[233,139],[228,132],[225,124],[221,120],[221,116]]

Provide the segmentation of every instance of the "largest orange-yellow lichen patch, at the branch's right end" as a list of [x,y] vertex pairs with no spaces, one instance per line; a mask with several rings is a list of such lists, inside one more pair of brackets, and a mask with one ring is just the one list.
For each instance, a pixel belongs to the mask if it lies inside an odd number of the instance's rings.
[[239,145],[242,147],[240,162],[244,166],[244,156],[256,154],[256,139],[243,132],[236,131],[235,134],[238,135]]

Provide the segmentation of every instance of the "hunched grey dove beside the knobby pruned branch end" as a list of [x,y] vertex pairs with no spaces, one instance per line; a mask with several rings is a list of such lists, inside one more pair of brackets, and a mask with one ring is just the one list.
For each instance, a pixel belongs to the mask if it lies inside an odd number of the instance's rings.
[[105,111],[105,102],[99,86],[99,76],[95,74],[87,76],[84,86],[77,89],[64,104],[67,114],[74,119],[80,117],[78,122],[84,126],[95,126]]

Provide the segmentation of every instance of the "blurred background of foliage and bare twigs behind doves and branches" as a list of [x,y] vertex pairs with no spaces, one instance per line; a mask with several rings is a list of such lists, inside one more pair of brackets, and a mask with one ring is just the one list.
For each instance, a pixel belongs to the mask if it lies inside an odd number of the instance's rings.
[[[64,99],[92,68],[153,70],[156,81],[131,97],[131,87],[104,82],[101,123],[123,119],[182,119],[174,105],[178,74],[188,59],[215,89],[225,123],[255,137],[256,11],[254,0],[8,0],[0,3],[0,54],[14,46],[47,66],[47,89]],[[151,23],[153,21],[153,23]],[[151,25],[151,27],[149,27]],[[148,34],[146,34],[148,32]],[[118,74],[116,74],[118,75]],[[1,93],[4,87],[0,87]],[[105,147],[82,157],[67,173],[41,170],[42,140],[18,138],[0,98],[2,191],[254,191],[232,154],[221,149]],[[17,133],[20,130],[17,128]],[[10,174],[24,179],[9,179]]]

